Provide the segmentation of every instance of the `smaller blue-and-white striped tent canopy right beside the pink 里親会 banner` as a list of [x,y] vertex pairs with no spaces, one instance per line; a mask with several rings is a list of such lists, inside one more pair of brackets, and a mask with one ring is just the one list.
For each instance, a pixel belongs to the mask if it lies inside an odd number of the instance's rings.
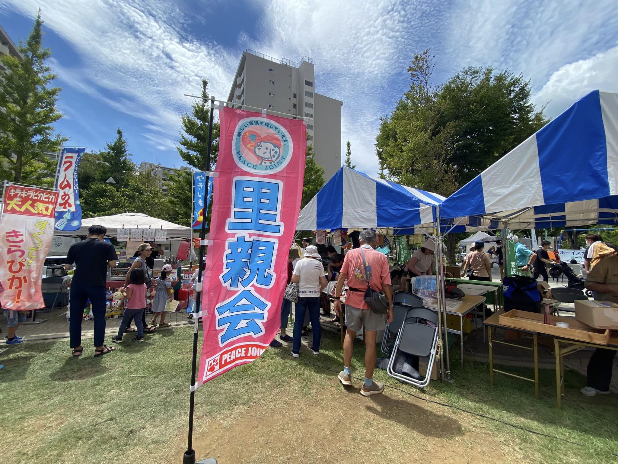
[[[444,197],[342,166],[303,208],[297,230],[408,229],[432,225]],[[407,233],[412,233],[407,231]]]

